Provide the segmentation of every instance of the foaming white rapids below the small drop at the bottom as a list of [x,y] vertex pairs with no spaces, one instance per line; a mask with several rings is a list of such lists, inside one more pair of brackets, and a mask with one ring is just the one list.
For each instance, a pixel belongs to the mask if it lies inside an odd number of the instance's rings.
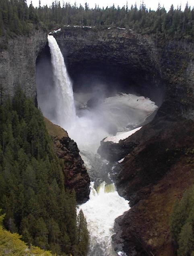
[[128,201],[119,196],[114,184],[102,182],[97,190],[91,182],[90,200],[80,208],[87,219],[90,233],[89,256],[116,255],[111,246],[114,220],[130,209]]

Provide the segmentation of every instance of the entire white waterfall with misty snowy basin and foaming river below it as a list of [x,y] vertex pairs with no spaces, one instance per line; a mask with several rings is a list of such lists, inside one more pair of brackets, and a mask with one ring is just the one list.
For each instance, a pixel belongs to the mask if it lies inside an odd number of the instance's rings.
[[[119,196],[114,185],[114,169],[118,162],[113,165],[101,159],[97,149],[105,137],[117,143],[140,130],[140,124],[157,106],[148,98],[117,92],[109,97],[101,95],[97,105],[88,107],[87,102],[93,98],[93,93],[73,94],[72,82],[58,43],[52,35],[48,35],[48,43],[54,76],[54,90],[51,93],[55,99],[53,114],[48,118],[67,130],[70,138],[76,141],[91,178],[90,199],[79,206],[87,219],[90,234],[88,255],[124,255],[124,252],[113,250],[111,236],[114,234],[114,220],[130,207],[128,201]],[[46,107],[41,104],[41,99],[38,103],[46,116]]]

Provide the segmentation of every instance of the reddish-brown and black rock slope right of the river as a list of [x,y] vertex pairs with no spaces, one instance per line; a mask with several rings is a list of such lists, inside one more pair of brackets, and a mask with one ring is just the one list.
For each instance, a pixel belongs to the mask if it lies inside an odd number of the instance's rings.
[[[176,119],[176,118],[175,118]],[[118,192],[131,209],[116,219],[113,240],[127,255],[173,256],[169,216],[194,182],[194,122],[160,116],[127,139],[139,142],[118,167]]]

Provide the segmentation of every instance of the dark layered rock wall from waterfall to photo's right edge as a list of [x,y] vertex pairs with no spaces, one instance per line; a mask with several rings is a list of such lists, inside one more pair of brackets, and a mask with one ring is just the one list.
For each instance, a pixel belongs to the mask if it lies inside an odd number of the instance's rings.
[[90,70],[94,72],[99,69],[98,77],[102,70],[110,80],[112,78],[111,82],[120,77],[126,90],[134,86],[134,91],[138,93],[141,87],[140,93],[151,97],[158,105],[170,99],[178,101],[182,107],[192,107],[192,42],[140,35],[118,28],[98,30],[64,27],[54,36],[64,55],[74,87],[81,86],[81,75],[88,76]]

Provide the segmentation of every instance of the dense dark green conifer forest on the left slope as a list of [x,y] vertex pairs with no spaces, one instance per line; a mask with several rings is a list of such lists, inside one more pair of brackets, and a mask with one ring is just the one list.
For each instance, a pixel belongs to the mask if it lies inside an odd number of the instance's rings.
[[[4,227],[22,235],[28,245],[60,255],[85,255],[88,239],[84,238],[86,246],[80,254],[83,235],[78,232],[75,193],[64,187],[62,165],[41,112],[18,88],[12,102],[8,99],[0,105],[0,208],[6,213]],[[87,233],[84,216],[79,222],[84,222]]]

